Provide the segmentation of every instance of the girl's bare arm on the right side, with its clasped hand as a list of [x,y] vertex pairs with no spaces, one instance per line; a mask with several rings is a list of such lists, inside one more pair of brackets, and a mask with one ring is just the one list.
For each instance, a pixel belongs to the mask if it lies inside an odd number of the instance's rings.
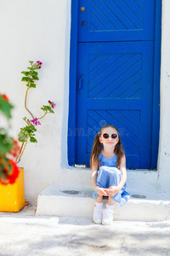
[[126,157],[125,156],[122,157],[120,171],[122,172],[120,183],[117,186],[111,186],[111,188],[106,190],[108,195],[110,195],[110,196],[116,195],[122,189],[122,187],[124,186],[124,184],[127,181],[127,168],[126,168]]

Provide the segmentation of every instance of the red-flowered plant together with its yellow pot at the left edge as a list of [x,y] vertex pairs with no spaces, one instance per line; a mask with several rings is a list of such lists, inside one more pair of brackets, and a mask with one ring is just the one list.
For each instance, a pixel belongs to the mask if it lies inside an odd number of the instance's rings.
[[[1,114],[11,119],[12,108],[8,97],[0,95]],[[0,127],[0,212],[18,212],[25,205],[24,170],[14,161],[19,149],[8,128]]]

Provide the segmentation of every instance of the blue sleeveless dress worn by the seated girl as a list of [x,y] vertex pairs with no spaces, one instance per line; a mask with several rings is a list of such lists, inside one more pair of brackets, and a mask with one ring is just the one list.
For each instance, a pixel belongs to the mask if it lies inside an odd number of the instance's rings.
[[[112,158],[105,158],[102,153],[99,154],[100,167],[97,176],[97,186],[100,188],[109,189],[111,186],[117,186],[121,181],[121,171],[116,168],[117,155]],[[122,189],[111,198],[123,206],[130,195],[125,191],[127,184],[125,183]],[[99,195],[94,192],[92,197],[96,199]]]

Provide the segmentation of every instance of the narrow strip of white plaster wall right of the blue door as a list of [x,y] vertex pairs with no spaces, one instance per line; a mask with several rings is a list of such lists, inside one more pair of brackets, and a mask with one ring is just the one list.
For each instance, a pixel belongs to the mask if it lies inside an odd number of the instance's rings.
[[170,187],[170,2],[162,1],[161,22],[161,127],[158,158],[159,185]]

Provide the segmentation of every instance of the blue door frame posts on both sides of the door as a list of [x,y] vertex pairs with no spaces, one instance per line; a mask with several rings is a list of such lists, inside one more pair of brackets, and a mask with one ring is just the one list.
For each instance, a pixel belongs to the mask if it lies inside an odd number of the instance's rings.
[[[76,109],[77,109],[77,15],[78,0],[71,1],[71,44],[70,44],[70,89],[68,118],[68,163],[75,165],[76,154]],[[160,130],[160,78],[161,78],[161,0],[156,0],[155,49],[154,49],[154,86],[152,110],[151,169],[157,167]]]

